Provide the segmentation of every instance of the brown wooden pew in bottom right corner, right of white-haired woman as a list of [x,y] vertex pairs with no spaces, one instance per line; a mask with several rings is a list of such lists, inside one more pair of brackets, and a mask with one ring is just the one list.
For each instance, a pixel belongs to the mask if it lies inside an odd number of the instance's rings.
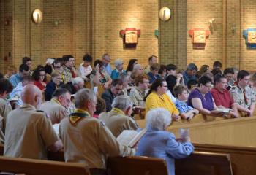
[[256,148],[233,147],[212,144],[194,144],[195,149],[200,152],[216,152],[230,155],[233,175],[255,175],[256,174]]

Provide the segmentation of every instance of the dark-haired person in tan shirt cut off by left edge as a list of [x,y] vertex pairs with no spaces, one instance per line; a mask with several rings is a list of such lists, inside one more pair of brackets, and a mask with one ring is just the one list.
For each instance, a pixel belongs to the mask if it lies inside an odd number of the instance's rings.
[[12,83],[8,79],[0,79],[0,130],[4,132],[7,114],[12,110],[7,96],[13,90]]

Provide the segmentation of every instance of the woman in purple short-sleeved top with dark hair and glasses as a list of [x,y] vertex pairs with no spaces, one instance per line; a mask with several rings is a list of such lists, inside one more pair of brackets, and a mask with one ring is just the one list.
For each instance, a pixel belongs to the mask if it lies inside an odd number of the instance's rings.
[[187,104],[199,110],[201,114],[217,115],[213,112],[217,107],[210,93],[211,88],[211,78],[208,76],[200,77],[198,87],[189,94]]

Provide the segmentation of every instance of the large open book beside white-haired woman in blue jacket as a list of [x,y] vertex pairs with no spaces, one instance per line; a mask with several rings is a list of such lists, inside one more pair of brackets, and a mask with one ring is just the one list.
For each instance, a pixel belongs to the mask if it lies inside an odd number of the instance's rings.
[[144,128],[140,132],[137,132],[135,130],[124,130],[116,139],[120,144],[126,145],[128,147],[134,147],[135,144],[146,133],[146,131],[146,128]]

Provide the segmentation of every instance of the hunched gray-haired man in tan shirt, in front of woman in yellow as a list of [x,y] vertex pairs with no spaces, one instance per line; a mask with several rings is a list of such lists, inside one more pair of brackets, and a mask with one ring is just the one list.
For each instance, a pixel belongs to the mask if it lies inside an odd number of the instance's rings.
[[118,137],[124,130],[137,130],[138,124],[132,117],[132,101],[129,96],[117,96],[110,112],[99,114],[99,119],[105,123],[114,136]]

